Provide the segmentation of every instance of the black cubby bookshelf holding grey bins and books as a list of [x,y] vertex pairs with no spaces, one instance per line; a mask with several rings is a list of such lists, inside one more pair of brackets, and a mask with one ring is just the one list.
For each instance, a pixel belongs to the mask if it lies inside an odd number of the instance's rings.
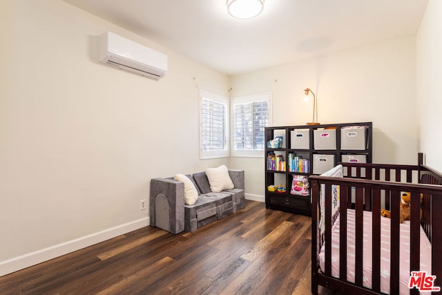
[[[363,128],[360,129],[358,135],[352,132],[351,128]],[[292,138],[294,135],[298,137],[298,131],[302,131],[305,136],[308,134],[308,140],[304,142],[301,148],[298,148],[298,143],[292,146]],[[316,131],[316,132],[315,132]],[[271,126],[265,128],[265,204],[268,209],[276,209],[282,211],[289,211],[293,213],[300,213],[303,215],[311,216],[311,198],[310,196],[298,196],[290,193],[291,184],[293,182],[294,175],[320,174],[325,171],[321,171],[325,166],[321,160],[327,162],[327,165],[336,166],[338,162],[348,162],[349,159],[357,158],[363,159],[367,163],[372,162],[372,122],[357,122],[357,123],[339,123],[339,124],[320,124],[320,125],[298,125],[298,126]],[[318,136],[318,140],[315,144],[315,133],[318,135],[327,135],[333,133],[336,139],[330,140],[334,146],[318,146],[321,138]],[[282,137],[282,145],[278,147],[268,146],[268,142],[276,138]],[[352,138],[356,136],[363,136],[363,146],[349,146],[348,142],[354,140]],[[344,140],[345,146],[341,146],[341,139]],[[358,138],[361,140],[361,138]],[[350,144],[351,145],[351,144]],[[316,149],[315,149],[316,147]],[[269,163],[269,155],[275,154],[275,158],[278,155],[282,156],[285,160],[285,169],[273,169],[273,165]],[[293,166],[289,164],[289,158],[291,155],[301,157],[304,164],[301,171],[289,171],[289,167]],[[281,158],[281,157],[280,157]],[[357,160],[356,159],[356,160]],[[352,161],[352,160],[350,160]],[[315,166],[316,165],[316,166]],[[280,165],[284,166],[284,164]],[[299,166],[299,165],[298,165]],[[319,167],[319,168],[318,168]],[[276,185],[280,187],[280,184],[285,185],[286,191],[269,191],[270,185]]]

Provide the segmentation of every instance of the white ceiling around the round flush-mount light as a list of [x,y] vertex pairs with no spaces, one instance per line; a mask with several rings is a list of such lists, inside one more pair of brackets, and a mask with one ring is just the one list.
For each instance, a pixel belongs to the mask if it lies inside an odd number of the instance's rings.
[[416,34],[427,0],[265,0],[234,19],[226,0],[64,0],[234,75]]

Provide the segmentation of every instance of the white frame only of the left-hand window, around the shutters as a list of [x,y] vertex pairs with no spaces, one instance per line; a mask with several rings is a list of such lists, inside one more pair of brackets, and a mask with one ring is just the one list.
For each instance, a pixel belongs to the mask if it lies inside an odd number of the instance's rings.
[[[208,99],[212,102],[224,104],[224,148],[204,151],[202,146],[202,131],[203,131],[203,100]],[[213,159],[213,158],[229,158],[230,157],[230,126],[229,126],[230,108],[229,97],[210,93],[209,91],[200,90],[200,159]]]

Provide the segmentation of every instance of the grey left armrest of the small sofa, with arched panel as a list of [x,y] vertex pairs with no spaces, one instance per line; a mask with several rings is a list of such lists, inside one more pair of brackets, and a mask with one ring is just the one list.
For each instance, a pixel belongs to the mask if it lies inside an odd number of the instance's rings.
[[172,234],[184,231],[184,183],[166,178],[151,180],[150,222]]

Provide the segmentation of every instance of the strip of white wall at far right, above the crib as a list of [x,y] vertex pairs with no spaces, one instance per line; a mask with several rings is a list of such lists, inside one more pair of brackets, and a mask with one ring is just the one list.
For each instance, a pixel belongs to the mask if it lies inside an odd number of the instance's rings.
[[442,171],[442,1],[430,0],[417,34],[420,149],[425,164]]

